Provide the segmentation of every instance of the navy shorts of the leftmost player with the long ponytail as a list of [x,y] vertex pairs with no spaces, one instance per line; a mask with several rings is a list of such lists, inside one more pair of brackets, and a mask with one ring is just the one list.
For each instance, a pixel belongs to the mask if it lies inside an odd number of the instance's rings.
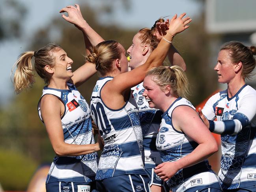
[[54,182],[47,183],[46,192],[98,192],[95,182]]

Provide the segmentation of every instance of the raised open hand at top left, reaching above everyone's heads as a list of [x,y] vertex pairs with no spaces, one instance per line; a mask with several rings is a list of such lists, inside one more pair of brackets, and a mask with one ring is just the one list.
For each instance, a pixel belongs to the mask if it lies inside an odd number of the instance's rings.
[[67,13],[68,16],[65,16],[62,14],[62,18],[66,21],[74,24],[77,28],[82,28],[84,24],[86,24],[86,21],[84,20],[82,13],[80,11],[80,7],[78,4],[75,4],[74,6],[67,6],[60,10],[60,13]]

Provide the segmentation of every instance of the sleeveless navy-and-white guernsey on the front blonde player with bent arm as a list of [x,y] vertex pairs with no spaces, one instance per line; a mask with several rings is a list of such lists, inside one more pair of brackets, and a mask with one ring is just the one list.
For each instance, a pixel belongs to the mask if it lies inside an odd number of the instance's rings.
[[[181,105],[186,105],[194,109],[194,106],[187,99],[179,97],[163,114],[156,142],[163,162],[179,160],[191,153],[198,146],[196,142],[191,140],[183,132],[176,130],[172,125],[172,112],[176,107]],[[211,170],[208,160],[179,170],[166,183],[172,192],[194,192],[207,188],[221,190],[217,175]]]

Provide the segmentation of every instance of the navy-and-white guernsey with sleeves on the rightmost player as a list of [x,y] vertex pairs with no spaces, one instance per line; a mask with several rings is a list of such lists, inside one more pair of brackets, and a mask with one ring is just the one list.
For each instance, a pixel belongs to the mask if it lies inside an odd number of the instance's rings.
[[[238,119],[243,128],[238,134],[221,135],[222,157],[219,178],[223,189],[256,185],[256,91],[244,85],[232,98],[227,90],[213,95],[202,110],[209,120]],[[215,121],[214,121],[215,122]],[[232,121],[223,122],[225,129]],[[227,124],[228,123],[228,124]]]

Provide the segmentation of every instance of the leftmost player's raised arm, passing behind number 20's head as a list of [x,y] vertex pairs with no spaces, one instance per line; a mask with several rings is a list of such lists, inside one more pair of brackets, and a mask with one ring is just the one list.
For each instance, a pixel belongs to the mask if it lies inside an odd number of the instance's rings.
[[[82,13],[80,11],[80,7],[78,4],[75,4],[74,6],[67,6],[65,8],[62,8],[60,10],[60,13],[67,12],[67,16],[62,14],[62,17],[74,24],[79,30],[82,31],[84,36],[84,43],[86,46],[86,54],[90,54],[90,48],[92,46],[97,45],[101,41],[104,41],[104,39],[101,38],[99,34],[97,34],[84,20],[82,17]],[[86,62],[84,65],[79,67],[75,72],[73,72],[74,76],[71,78],[73,81],[73,84],[75,86],[80,86],[84,82],[86,82],[91,76],[93,76],[97,70],[95,69],[95,65],[92,63]]]

